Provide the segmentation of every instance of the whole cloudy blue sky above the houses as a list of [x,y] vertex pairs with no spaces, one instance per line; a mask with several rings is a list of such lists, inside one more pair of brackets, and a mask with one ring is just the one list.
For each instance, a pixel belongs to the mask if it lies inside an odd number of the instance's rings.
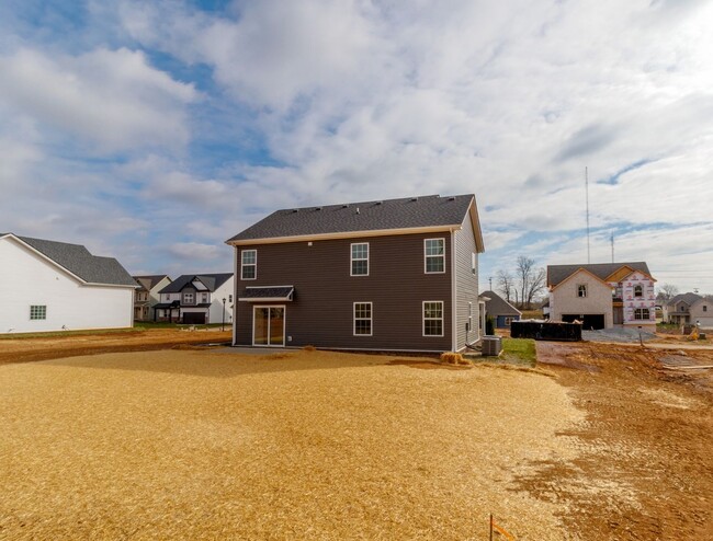
[[474,193],[482,287],[646,261],[713,292],[713,2],[0,4],[0,231],[231,269],[278,208]]

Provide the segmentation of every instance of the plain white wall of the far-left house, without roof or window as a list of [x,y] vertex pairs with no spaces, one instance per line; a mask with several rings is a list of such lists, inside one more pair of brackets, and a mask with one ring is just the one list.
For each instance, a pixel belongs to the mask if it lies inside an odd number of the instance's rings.
[[[31,306],[47,307],[30,320]],[[83,286],[16,241],[0,239],[0,333],[131,327],[134,288]]]

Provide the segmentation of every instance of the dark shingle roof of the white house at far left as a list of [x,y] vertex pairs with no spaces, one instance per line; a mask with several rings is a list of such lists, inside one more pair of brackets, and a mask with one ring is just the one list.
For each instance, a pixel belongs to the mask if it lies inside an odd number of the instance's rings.
[[92,255],[81,244],[18,237],[59,266],[89,284],[136,286],[136,281],[114,257]]

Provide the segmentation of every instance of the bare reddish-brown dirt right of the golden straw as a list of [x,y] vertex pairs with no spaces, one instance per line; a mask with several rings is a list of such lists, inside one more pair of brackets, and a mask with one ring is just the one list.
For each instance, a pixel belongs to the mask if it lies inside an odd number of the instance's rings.
[[713,375],[680,369],[713,350],[539,342],[537,359],[587,421],[566,431],[577,459],[535,465],[521,488],[566,505],[580,539],[713,539]]

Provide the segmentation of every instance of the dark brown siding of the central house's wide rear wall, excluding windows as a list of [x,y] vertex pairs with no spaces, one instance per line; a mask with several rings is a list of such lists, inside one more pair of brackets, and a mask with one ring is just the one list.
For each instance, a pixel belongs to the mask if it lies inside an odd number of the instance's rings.
[[[426,274],[423,240],[445,239],[445,273]],[[369,276],[350,276],[350,245],[367,242]],[[240,251],[257,250],[257,279],[240,278]],[[237,295],[249,286],[295,287],[286,307],[287,346],[451,349],[450,232],[239,246]],[[422,336],[422,301],[443,301],[442,337]],[[372,336],[353,335],[353,302],[372,302]],[[251,302],[238,302],[236,343],[252,343]]]

